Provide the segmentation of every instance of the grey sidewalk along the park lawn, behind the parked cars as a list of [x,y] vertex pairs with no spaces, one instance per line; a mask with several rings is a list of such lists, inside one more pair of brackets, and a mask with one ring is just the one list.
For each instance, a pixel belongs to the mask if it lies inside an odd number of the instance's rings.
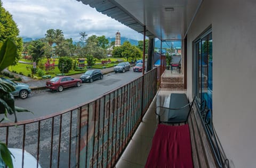
[[[132,66],[132,65],[131,65]],[[106,68],[106,69],[102,69],[101,72],[103,74],[107,74],[110,72],[114,72],[114,67],[111,68]],[[73,74],[73,75],[69,75],[70,77],[73,78],[80,78],[81,75],[83,73],[79,73],[79,74]],[[33,79],[33,78],[22,78],[22,82],[23,83],[27,83],[27,85],[29,85],[29,87],[31,88],[31,90],[41,90],[41,89],[45,89],[45,83],[46,81],[49,81],[50,79],[41,79],[41,80],[37,80],[37,79]]]

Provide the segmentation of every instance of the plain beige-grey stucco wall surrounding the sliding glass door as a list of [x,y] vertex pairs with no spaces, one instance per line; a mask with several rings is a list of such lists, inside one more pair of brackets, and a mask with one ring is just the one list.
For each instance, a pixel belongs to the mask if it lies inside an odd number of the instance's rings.
[[188,31],[188,95],[193,40],[212,25],[213,123],[231,167],[256,167],[256,2],[203,1]]

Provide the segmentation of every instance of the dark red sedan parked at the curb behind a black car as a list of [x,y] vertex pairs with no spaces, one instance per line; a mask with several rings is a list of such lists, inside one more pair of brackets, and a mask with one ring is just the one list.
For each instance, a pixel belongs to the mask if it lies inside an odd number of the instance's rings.
[[46,82],[46,88],[51,90],[62,91],[63,88],[68,88],[72,86],[80,87],[82,83],[81,79],[74,79],[72,77],[54,77]]

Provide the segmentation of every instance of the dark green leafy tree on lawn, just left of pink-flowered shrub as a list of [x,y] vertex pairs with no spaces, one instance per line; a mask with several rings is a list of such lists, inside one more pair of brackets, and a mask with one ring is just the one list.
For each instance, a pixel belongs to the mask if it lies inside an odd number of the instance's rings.
[[32,56],[32,61],[38,63],[44,55],[44,43],[41,40],[35,40],[29,46],[29,53]]

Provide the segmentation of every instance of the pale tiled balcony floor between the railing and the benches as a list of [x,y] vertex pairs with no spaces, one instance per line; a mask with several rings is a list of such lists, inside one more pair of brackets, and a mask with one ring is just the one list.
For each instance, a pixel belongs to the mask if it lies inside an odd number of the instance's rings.
[[155,115],[156,106],[169,107],[171,93],[186,93],[186,91],[159,90],[153,102],[144,115],[132,140],[125,149],[115,167],[144,167],[151,149],[153,136],[158,124]]

